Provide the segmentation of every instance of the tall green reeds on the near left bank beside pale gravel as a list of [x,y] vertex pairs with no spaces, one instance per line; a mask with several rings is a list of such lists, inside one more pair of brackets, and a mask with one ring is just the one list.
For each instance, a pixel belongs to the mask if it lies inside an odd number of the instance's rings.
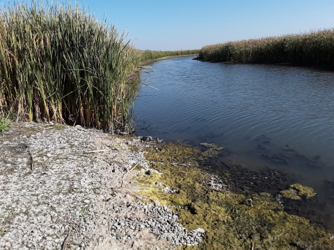
[[194,52],[138,50],[79,5],[15,2],[0,17],[0,113],[21,120],[131,132],[136,67]]

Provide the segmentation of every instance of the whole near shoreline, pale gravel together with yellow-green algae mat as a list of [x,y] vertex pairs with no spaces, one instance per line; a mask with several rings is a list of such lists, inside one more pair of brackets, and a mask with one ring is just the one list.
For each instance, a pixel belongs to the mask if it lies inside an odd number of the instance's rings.
[[[228,183],[233,172],[215,174],[202,165],[221,151],[214,144],[200,151],[177,142],[143,142],[95,128],[42,122],[12,124],[0,139],[3,249],[60,249],[64,244],[78,250],[197,245],[246,249],[264,244],[260,228],[267,225],[268,215],[273,219],[268,238],[292,230],[271,242],[273,246],[287,241],[301,247],[298,240],[310,235],[308,246],[334,245],[333,234],[283,212],[282,200],[265,190],[239,192],[238,185]],[[249,178],[254,174],[235,171]],[[249,213],[255,224],[248,220]],[[257,235],[254,226],[262,236],[249,239]],[[244,233],[235,238],[239,230]],[[304,236],[295,239],[299,232]],[[227,243],[231,240],[234,244]]]

